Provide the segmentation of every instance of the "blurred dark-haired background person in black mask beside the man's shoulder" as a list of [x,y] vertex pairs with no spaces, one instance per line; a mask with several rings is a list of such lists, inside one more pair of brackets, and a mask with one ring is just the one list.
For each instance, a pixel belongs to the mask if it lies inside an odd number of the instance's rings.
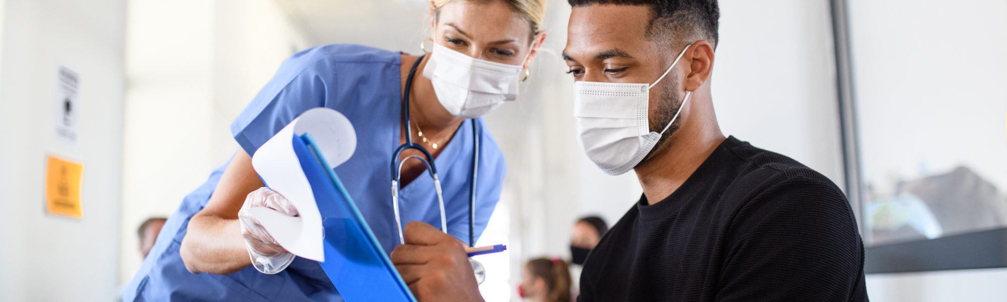
[[599,216],[584,216],[573,223],[570,231],[570,276],[573,277],[573,288],[570,291],[576,297],[580,293],[580,272],[584,269],[587,255],[598,245],[601,237],[608,232],[608,224]]

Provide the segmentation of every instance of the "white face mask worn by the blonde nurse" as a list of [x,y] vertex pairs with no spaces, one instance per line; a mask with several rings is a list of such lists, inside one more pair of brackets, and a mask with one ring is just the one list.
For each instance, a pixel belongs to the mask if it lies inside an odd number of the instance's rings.
[[423,77],[430,79],[437,100],[451,115],[474,119],[499,107],[503,101],[518,99],[522,65],[478,59],[433,44]]

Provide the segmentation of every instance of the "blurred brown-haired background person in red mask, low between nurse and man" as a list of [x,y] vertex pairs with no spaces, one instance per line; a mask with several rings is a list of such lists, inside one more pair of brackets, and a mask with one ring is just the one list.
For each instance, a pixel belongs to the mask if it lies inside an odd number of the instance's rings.
[[569,302],[570,271],[566,261],[559,258],[536,258],[522,269],[518,294],[533,302]]

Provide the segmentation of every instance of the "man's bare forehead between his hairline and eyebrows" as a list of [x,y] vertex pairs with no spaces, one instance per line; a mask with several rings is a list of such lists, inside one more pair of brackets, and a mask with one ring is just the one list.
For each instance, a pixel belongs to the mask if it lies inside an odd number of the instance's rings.
[[646,40],[651,9],[644,5],[577,6],[570,13],[565,52],[590,55],[611,48],[632,49]]

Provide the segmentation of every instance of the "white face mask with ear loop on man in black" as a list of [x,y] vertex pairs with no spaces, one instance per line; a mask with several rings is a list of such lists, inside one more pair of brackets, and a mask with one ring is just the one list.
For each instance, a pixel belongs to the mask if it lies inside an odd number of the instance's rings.
[[654,84],[577,82],[573,86],[573,112],[577,120],[577,139],[587,157],[609,175],[625,173],[636,166],[661,136],[675,123],[686,97],[665,129],[652,132],[648,120],[651,89],[675,67],[690,45],[682,49],[672,65]]

